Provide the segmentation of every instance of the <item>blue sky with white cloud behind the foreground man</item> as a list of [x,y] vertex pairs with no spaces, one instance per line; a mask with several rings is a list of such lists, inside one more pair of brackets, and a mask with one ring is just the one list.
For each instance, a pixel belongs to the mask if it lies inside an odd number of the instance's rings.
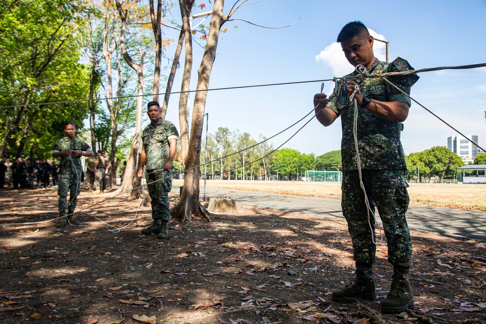
[[[193,14],[212,8],[207,0],[198,3],[205,3],[206,8],[195,8]],[[225,14],[233,3],[226,1]],[[179,19],[177,10],[172,14]],[[284,29],[265,29],[238,20],[226,22],[223,27],[228,32],[221,34],[209,87],[321,80],[347,74],[353,67],[339,63],[344,58],[339,48],[328,51],[327,60],[316,56],[331,46],[341,28],[352,20],[363,21],[390,42],[390,60],[400,56],[416,69],[485,63],[484,17],[484,0],[468,1],[467,5],[462,1],[368,1],[362,8],[346,7],[341,1],[263,0],[242,7],[233,18],[272,27],[298,22]],[[209,18],[205,24],[209,24]],[[165,32],[178,37],[176,31]],[[375,46],[375,56],[384,59],[384,44],[375,42]],[[168,51],[171,56],[173,48]],[[202,53],[194,44],[191,89],[196,87]],[[183,58],[180,63],[173,91],[180,90]],[[479,145],[486,148],[486,68],[419,76],[411,96],[463,134],[479,136]],[[321,83],[308,83],[211,91],[206,104],[209,133],[227,127],[248,132],[255,139],[260,134],[273,136],[312,110],[312,97],[320,87]],[[329,93],[332,87],[332,82],[325,83],[324,92]],[[191,94],[191,107],[193,98]],[[166,119],[178,125],[178,95],[171,96]],[[401,138],[406,154],[447,146],[447,137],[458,135],[414,102],[404,124]],[[274,138],[274,147],[297,128],[293,130]],[[340,120],[323,127],[314,119],[284,147],[317,156],[339,150],[340,143]]]

